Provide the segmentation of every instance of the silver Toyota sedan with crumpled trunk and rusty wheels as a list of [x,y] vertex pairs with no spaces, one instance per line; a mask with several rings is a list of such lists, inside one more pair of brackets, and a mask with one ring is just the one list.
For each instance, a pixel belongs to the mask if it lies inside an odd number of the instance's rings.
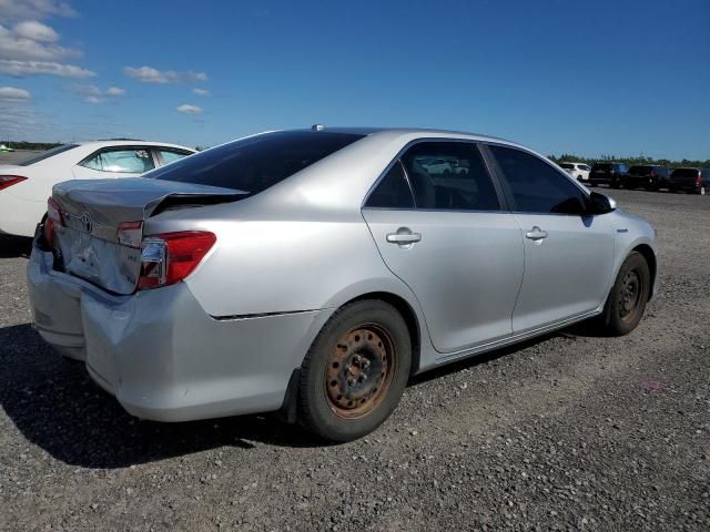
[[647,222],[520,145],[314,127],[55,185],[28,282],[37,330],[130,413],[281,410],[346,441],[413,375],[630,332],[657,268]]

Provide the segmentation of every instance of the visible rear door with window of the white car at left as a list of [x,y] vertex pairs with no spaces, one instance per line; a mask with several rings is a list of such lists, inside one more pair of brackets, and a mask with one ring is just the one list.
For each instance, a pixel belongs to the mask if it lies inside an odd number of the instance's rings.
[[74,165],[78,180],[138,177],[156,164],[150,146],[111,146],[98,150]]

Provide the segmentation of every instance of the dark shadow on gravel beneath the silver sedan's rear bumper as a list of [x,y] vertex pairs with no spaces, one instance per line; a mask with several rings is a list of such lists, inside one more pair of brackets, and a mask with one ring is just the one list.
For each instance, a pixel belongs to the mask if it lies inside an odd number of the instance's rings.
[[[219,447],[322,446],[275,416],[184,423],[141,421],[99,388],[83,365],[54,354],[29,324],[0,328],[0,407],[57,460],[113,469]],[[19,451],[18,451],[19,453]]]

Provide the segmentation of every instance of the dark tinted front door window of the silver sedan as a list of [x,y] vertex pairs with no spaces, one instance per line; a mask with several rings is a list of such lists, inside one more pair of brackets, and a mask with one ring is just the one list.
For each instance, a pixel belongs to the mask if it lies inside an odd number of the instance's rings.
[[566,175],[529,153],[490,146],[510,186],[515,211],[524,213],[580,214],[586,194]]

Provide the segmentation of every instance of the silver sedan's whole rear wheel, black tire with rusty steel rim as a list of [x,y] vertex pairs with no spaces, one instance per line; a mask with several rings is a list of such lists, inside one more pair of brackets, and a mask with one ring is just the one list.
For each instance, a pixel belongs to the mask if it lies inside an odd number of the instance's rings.
[[397,309],[378,299],[345,305],[303,361],[301,424],[334,442],[372,432],[397,407],[410,366],[409,329]]

